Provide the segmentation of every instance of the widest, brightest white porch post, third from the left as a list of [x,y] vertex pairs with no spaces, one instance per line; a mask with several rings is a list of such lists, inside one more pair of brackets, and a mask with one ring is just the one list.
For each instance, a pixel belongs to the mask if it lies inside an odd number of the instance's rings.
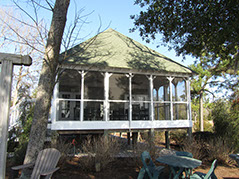
[[104,74],[104,93],[105,93],[105,100],[104,100],[104,121],[109,120],[109,80],[112,73],[105,72]]

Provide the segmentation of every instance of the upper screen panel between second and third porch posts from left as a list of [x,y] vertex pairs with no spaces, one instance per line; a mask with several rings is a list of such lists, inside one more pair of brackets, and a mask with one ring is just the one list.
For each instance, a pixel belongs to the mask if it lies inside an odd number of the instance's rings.
[[85,99],[104,99],[104,76],[100,72],[87,72],[84,83]]

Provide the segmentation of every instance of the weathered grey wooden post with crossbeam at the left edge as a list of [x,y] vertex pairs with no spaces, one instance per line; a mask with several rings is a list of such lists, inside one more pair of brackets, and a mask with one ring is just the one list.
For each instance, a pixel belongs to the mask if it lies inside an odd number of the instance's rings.
[[29,56],[0,53],[0,179],[5,178],[13,65],[31,65]]

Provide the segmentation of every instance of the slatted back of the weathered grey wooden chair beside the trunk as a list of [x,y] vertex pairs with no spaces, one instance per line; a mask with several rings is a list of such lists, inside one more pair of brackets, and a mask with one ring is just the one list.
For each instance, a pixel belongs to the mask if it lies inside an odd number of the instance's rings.
[[[54,148],[48,148],[40,151],[32,171],[31,179],[40,179],[40,173],[55,168],[60,156],[61,153]],[[51,175],[47,176],[46,179],[51,178]]]

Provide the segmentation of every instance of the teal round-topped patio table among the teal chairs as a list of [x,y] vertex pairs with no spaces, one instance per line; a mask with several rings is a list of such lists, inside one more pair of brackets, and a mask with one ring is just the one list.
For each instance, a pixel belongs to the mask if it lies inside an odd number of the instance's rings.
[[202,161],[197,160],[195,158],[176,155],[161,156],[158,157],[156,161],[166,164],[170,167],[170,170],[173,173],[173,179],[179,178],[179,176],[183,173],[184,170],[186,171],[187,175],[190,170],[202,164]]

